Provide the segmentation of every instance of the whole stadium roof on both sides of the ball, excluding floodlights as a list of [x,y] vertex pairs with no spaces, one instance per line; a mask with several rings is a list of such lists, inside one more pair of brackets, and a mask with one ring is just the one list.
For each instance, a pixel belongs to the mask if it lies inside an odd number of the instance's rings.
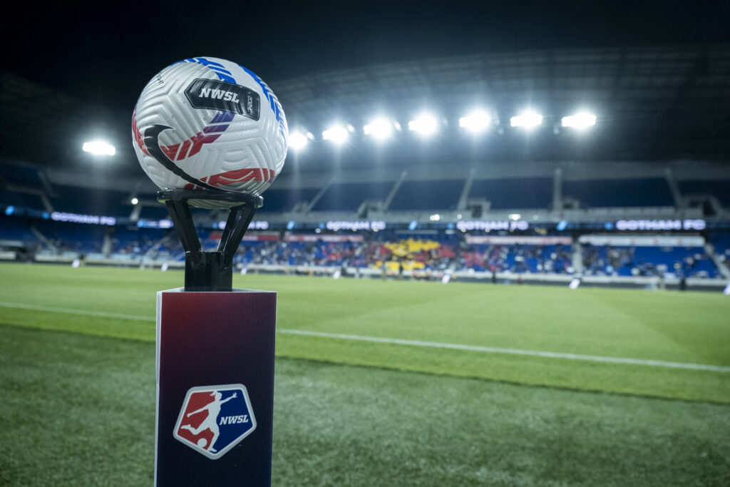
[[[71,170],[139,175],[128,112],[80,101],[11,72],[0,72],[0,156]],[[298,157],[301,170],[375,159],[388,166],[425,161],[626,160],[730,158],[730,45],[611,47],[450,56],[379,64],[271,80],[290,129],[315,137]],[[458,118],[472,107],[494,123],[480,137]],[[530,134],[510,127],[525,107],[544,115]],[[580,108],[598,116],[577,134],[560,119]],[[428,109],[442,126],[423,142],[408,120]],[[362,126],[377,113],[403,131],[376,145]],[[334,150],[321,132],[334,120],[353,127]],[[118,147],[107,164],[80,153],[84,139],[105,134]],[[290,159],[294,157],[291,153]]]

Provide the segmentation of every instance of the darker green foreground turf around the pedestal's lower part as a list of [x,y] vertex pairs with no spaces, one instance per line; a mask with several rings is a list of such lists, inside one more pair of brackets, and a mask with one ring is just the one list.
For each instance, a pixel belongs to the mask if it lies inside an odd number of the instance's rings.
[[[0,485],[145,486],[154,345],[0,325]],[[274,486],[726,486],[730,406],[277,358]]]

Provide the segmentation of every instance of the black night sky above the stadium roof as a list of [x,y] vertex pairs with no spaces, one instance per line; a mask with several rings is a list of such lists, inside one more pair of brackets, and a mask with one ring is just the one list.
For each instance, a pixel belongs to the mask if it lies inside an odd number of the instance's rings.
[[730,42],[729,1],[104,3],[15,4],[2,20],[0,66],[131,110],[156,72],[199,55],[236,61],[272,83],[447,55]]

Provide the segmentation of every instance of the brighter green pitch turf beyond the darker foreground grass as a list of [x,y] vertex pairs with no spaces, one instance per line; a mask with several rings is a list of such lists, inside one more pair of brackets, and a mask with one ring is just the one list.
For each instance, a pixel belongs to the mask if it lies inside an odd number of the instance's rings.
[[[181,272],[0,266],[0,301],[139,315],[123,319],[0,306],[0,322],[154,340],[155,291]],[[236,275],[278,291],[282,329],[730,366],[722,294]],[[34,298],[34,296],[36,296]],[[591,391],[730,402],[730,374],[291,334],[277,355]]]

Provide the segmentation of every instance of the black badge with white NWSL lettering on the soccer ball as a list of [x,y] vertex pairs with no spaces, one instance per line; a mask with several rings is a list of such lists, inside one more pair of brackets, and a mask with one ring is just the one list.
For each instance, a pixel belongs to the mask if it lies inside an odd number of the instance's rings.
[[193,80],[185,90],[193,108],[222,110],[258,120],[261,99],[245,86],[218,80]]

